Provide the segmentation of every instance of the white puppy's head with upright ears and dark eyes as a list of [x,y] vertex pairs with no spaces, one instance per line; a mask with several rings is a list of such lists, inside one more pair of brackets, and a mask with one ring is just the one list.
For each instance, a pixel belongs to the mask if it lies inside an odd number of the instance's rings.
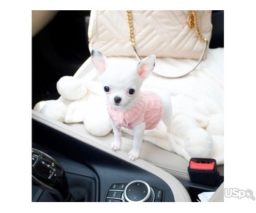
[[116,109],[129,109],[140,96],[140,87],[154,69],[156,57],[149,55],[137,63],[109,61],[105,55],[92,50],[91,61],[101,73],[103,89],[108,102]]

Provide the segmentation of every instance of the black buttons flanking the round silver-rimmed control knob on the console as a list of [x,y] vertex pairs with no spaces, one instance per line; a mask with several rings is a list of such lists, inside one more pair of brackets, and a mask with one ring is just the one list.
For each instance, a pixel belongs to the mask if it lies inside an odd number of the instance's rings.
[[[113,185],[111,185],[106,195],[105,201],[106,202],[127,202],[126,199],[124,198],[124,190],[127,187],[127,185],[132,186],[131,183],[114,183]],[[151,199],[151,202],[162,202],[164,200],[163,190],[154,186],[150,186],[150,188],[152,190],[152,193],[154,194],[153,198]],[[128,191],[127,191],[127,194],[129,195]]]

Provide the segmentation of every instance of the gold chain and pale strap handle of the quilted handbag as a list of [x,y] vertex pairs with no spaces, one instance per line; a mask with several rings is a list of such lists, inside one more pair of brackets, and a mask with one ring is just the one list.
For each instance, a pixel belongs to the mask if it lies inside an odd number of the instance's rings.
[[[140,55],[138,55],[138,52],[135,47],[135,34],[134,34],[134,28],[133,28],[133,22],[132,22],[132,10],[127,10],[127,21],[128,21],[128,26],[129,26],[129,40],[131,42],[132,49],[135,53],[135,57],[140,61],[141,60]],[[198,23],[197,23],[197,11],[196,10],[189,10],[189,15],[187,17],[187,25],[191,29],[195,28],[195,33],[197,34],[197,38],[200,39],[201,42],[205,43],[205,46],[203,47],[203,52],[200,55],[200,58],[198,59],[196,65],[191,70],[187,71],[185,74],[181,74],[180,76],[169,77],[169,78],[180,78],[180,77],[184,77],[187,74],[191,73],[201,63],[204,55],[206,54],[206,50],[208,47],[208,40],[200,33]]]

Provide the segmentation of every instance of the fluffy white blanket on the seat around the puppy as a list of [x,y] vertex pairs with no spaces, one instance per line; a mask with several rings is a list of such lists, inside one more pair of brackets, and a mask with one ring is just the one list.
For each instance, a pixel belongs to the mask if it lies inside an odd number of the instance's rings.
[[[186,77],[170,79],[151,74],[143,83],[143,89],[170,93],[173,103],[171,133],[166,133],[164,124],[159,123],[154,130],[145,132],[146,141],[162,149],[176,152],[187,160],[193,157],[215,158],[217,164],[224,163],[223,52],[223,48],[210,49],[206,59]],[[120,58],[108,58],[108,60],[114,62]],[[129,63],[129,60],[134,59],[122,58],[122,60]],[[184,62],[195,63],[191,60]],[[164,59],[157,59],[157,64],[157,69],[168,69]],[[59,107],[55,107],[54,110],[60,113],[61,107],[65,106],[61,122],[83,122],[87,131],[97,136],[104,136],[111,131],[111,126],[105,107],[105,93],[98,75],[90,71],[81,77],[81,82],[83,86],[86,85],[85,95],[78,100],[68,100],[64,92],[59,89],[61,94],[57,100]],[[64,87],[65,90],[63,82],[60,87]],[[68,93],[70,90],[65,91]],[[46,111],[45,115],[49,114],[53,107],[46,110],[45,103],[38,103],[34,109],[42,113]],[[132,131],[127,129],[123,131],[132,134]]]

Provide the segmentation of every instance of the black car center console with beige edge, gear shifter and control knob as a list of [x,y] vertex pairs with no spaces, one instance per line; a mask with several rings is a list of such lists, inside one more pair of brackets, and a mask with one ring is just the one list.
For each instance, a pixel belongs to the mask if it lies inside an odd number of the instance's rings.
[[32,201],[191,201],[175,177],[33,112]]

